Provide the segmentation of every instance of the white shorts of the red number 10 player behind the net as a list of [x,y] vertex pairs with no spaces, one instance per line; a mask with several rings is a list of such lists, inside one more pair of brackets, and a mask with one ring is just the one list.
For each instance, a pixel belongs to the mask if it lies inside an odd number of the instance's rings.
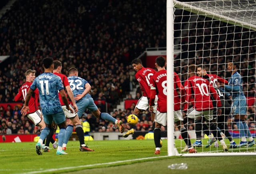
[[213,119],[213,110],[206,110],[206,111],[196,111],[194,108],[188,109],[186,113],[188,118],[196,120],[198,117],[204,117],[206,120],[210,121]]

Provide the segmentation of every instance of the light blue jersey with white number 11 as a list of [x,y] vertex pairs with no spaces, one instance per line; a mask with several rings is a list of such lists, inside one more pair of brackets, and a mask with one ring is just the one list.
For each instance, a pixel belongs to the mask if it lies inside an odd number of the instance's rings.
[[60,77],[53,73],[42,73],[36,77],[30,88],[32,90],[38,88],[43,115],[55,114],[62,111],[58,90],[64,89],[64,86]]

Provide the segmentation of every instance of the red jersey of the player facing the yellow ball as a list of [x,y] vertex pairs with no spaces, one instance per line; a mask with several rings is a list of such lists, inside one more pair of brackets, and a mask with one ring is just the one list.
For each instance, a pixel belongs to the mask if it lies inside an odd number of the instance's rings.
[[135,74],[135,78],[140,83],[143,96],[145,97],[150,97],[150,77],[155,73],[156,71],[152,68],[142,67],[142,69]]

